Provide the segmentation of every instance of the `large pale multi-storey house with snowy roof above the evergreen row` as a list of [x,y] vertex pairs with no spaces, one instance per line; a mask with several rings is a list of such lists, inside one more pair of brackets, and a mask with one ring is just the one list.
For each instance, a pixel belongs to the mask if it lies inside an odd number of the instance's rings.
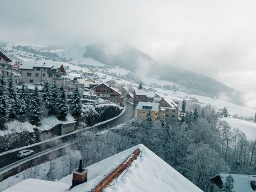
[[35,61],[24,61],[19,67],[22,81],[25,83],[42,83],[48,80],[50,83],[61,76],[65,76],[66,72],[60,63],[45,63]]

